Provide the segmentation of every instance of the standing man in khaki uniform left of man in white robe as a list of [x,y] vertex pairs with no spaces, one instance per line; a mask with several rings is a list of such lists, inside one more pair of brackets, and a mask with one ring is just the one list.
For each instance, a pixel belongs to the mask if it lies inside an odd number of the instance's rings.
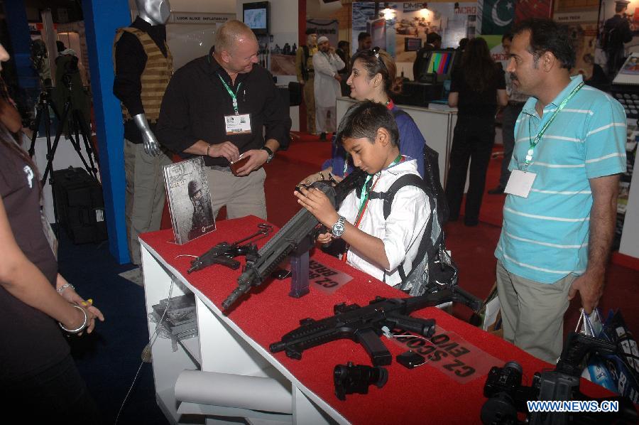
[[295,52],[295,74],[302,87],[302,96],[306,107],[306,131],[317,134],[315,129],[315,70],[313,55],[317,53],[317,33],[306,31],[306,44]]

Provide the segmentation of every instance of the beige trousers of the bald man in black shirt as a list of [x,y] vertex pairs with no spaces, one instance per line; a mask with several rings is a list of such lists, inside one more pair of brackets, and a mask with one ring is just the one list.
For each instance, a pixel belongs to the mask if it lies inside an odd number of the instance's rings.
[[256,215],[266,220],[264,168],[241,177],[234,176],[231,171],[220,171],[211,167],[207,167],[206,170],[215,217],[219,209],[226,205],[226,218]]

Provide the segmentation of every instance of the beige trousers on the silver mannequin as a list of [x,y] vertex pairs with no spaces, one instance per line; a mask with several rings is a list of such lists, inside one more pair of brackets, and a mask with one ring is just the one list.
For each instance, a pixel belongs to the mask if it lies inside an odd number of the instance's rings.
[[142,263],[138,235],[160,230],[165,199],[163,166],[170,163],[171,159],[164,152],[151,156],[144,151],[144,144],[133,144],[124,139],[124,214],[133,264]]

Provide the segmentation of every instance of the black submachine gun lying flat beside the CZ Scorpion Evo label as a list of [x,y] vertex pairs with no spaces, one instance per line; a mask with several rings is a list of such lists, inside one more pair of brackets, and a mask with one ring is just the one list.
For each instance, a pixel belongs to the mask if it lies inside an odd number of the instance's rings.
[[[302,352],[333,340],[349,338],[364,346],[374,366],[390,365],[392,356],[381,340],[383,328],[409,330],[430,338],[435,333],[435,319],[408,316],[412,311],[453,301],[469,306],[474,311],[481,308],[481,300],[459,288],[450,286],[435,294],[409,298],[376,297],[368,306],[345,303],[334,306],[334,316],[315,321],[306,318],[300,327],[291,330],[277,343],[270,345],[272,353],[285,350],[288,357],[301,359]],[[388,331],[387,330],[387,331]]]

